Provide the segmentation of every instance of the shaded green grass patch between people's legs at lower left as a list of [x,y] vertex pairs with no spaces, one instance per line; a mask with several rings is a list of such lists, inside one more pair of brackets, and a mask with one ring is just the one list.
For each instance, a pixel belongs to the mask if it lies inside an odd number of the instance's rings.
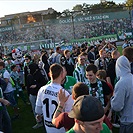
[[[31,105],[25,105],[21,99],[18,100],[19,118],[12,120],[12,130],[13,133],[45,133],[43,127],[38,129],[32,129],[36,124],[34,115],[32,113]],[[10,116],[13,116],[13,110],[8,107],[8,112]]]

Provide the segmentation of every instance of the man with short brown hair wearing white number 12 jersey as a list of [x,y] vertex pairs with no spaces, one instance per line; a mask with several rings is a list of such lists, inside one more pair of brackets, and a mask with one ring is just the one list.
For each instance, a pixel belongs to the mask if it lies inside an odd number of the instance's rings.
[[[38,114],[37,119],[43,114],[44,125],[47,133],[64,133],[65,129],[56,129],[52,124],[54,112],[58,106],[58,92],[62,88],[62,80],[66,76],[66,70],[59,64],[50,66],[51,83],[41,87],[37,95],[35,112]],[[69,93],[65,91],[66,96]],[[72,108],[73,100],[68,98],[64,106],[64,111],[69,112]]]

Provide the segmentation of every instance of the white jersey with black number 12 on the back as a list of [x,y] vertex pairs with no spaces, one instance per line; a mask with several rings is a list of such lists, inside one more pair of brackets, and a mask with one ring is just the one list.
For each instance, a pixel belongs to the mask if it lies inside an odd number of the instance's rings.
[[[38,106],[42,108],[44,124],[47,133],[65,133],[64,128],[57,129],[52,124],[52,118],[58,106],[57,95],[61,88],[62,86],[60,84],[50,83],[49,85],[41,87],[37,95],[36,107]],[[65,94],[66,96],[69,95],[69,93],[66,90]],[[73,105],[73,100],[71,98],[68,98],[64,106],[64,111],[69,112],[72,108],[72,105]]]

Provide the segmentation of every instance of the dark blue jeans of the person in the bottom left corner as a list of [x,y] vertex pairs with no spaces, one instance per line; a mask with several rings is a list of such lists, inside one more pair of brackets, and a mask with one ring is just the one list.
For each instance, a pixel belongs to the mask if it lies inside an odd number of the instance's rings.
[[0,110],[0,131],[4,133],[11,133],[11,119],[5,106]]

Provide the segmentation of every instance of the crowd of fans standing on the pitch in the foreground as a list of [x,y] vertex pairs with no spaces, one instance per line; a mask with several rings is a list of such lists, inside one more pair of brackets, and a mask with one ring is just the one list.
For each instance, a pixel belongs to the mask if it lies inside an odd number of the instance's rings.
[[[110,133],[119,124],[120,133],[132,133],[133,48],[126,45],[122,54],[105,41],[75,45],[72,51],[42,49],[38,57],[24,55],[19,64],[24,78],[12,57],[1,57],[0,131],[12,132],[11,119],[21,115],[19,96],[32,107],[33,129],[44,125],[47,133]],[[12,106],[13,117],[6,106]]]

